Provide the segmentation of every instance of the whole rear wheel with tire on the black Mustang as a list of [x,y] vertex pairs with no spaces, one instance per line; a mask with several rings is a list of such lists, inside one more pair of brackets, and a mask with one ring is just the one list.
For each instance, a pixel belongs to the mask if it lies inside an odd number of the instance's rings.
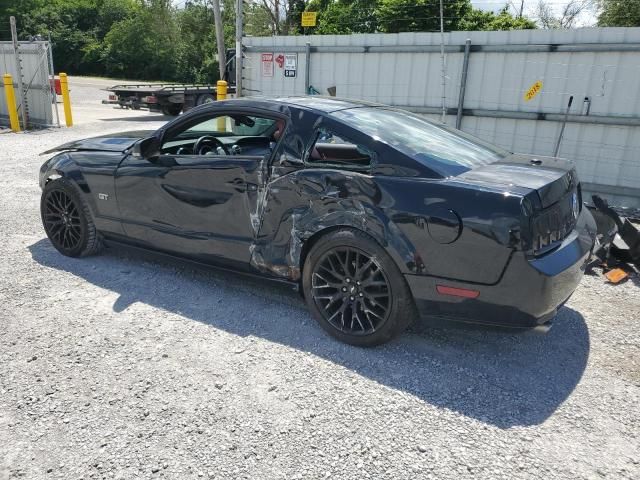
[[398,266],[359,230],[333,231],[315,242],[304,262],[302,288],[320,326],[350,345],[388,342],[417,316]]

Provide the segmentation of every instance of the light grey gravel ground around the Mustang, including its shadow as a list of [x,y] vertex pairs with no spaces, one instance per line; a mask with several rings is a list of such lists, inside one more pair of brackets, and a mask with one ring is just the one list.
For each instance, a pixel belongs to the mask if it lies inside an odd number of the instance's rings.
[[546,335],[363,350],[281,286],[58,254],[37,154],[164,119],[100,82],[72,79],[77,126],[0,134],[0,480],[640,478],[637,278],[586,277]]

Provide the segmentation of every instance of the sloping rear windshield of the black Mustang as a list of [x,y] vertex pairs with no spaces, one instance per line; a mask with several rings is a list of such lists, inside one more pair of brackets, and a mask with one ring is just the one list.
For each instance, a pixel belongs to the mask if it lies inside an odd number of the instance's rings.
[[363,107],[339,110],[332,115],[443,177],[460,175],[509,155],[460,130],[400,110]]

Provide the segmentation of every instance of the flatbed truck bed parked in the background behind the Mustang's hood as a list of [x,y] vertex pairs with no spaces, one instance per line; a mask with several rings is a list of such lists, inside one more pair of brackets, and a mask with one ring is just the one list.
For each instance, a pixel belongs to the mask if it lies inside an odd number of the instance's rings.
[[[139,110],[148,108],[165,115],[179,115],[203,103],[215,102],[217,89],[210,84],[141,83],[114,85],[107,88],[109,99],[104,104]],[[227,95],[235,94],[235,86],[227,87]]]

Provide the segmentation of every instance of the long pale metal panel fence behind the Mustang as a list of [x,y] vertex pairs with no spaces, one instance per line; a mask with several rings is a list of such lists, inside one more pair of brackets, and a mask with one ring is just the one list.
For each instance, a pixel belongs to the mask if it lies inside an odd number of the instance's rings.
[[[449,114],[458,106],[464,45],[471,40],[461,128],[517,152],[553,154],[568,99],[574,97],[559,155],[576,161],[586,190],[640,207],[640,28],[451,32],[445,34]],[[322,94],[407,108],[439,118],[440,35],[365,34],[246,38],[245,95]],[[263,53],[297,53],[296,77]],[[541,91],[525,93],[537,81]],[[590,112],[583,112],[584,98]],[[455,116],[447,123],[455,125]],[[589,122],[589,123],[585,123]]]

